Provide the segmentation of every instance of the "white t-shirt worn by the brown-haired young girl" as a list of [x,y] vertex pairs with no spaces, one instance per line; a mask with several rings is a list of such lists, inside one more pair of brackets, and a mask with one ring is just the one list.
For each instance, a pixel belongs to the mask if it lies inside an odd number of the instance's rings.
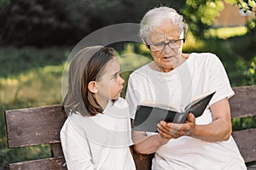
[[121,98],[109,101],[96,116],[71,111],[61,128],[62,150],[72,170],[136,169],[131,144],[131,116]]

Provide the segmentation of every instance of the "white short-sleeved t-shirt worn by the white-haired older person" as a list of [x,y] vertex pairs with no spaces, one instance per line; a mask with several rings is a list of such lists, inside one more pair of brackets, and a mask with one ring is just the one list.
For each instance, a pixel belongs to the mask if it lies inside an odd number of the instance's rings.
[[[170,72],[152,70],[148,65],[134,71],[129,78],[126,101],[131,114],[143,101],[155,101],[184,107],[195,96],[216,93],[209,105],[234,95],[224,66],[210,53],[190,54],[189,58]],[[196,124],[212,122],[209,107],[196,118]],[[153,135],[155,133],[147,133]],[[227,141],[207,142],[183,136],[171,139],[155,152],[152,169],[246,169],[232,136]]]

